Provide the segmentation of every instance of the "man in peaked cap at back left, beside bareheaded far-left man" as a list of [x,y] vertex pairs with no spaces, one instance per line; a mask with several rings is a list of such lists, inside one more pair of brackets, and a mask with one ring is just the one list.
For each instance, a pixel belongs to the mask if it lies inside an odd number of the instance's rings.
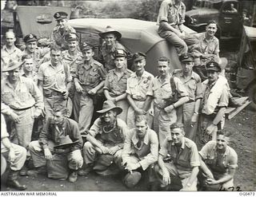
[[43,62],[50,60],[49,48],[38,48],[38,38],[33,33],[24,37],[26,49],[22,51],[22,55],[30,55],[34,60],[34,72],[38,73],[39,66]]

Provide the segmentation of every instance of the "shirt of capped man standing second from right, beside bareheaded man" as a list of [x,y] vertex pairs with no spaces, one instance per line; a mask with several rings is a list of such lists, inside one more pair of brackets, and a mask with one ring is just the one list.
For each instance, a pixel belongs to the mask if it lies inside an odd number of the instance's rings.
[[185,78],[183,72],[175,73],[174,76],[178,77],[186,88],[189,95],[189,101],[195,101],[202,98],[202,83],[201,78],[197,73],[192,71],[191,77]]

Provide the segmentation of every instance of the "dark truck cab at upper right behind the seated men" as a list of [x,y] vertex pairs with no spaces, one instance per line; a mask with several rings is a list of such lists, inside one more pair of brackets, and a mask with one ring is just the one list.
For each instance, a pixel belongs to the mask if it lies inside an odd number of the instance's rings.
[[242,35],[241,11],[238,0],[195,0],[192,10],[186,12],[185,25],[203,32],[207,22],[215,20],[218,22],[218,38],[239,38]]

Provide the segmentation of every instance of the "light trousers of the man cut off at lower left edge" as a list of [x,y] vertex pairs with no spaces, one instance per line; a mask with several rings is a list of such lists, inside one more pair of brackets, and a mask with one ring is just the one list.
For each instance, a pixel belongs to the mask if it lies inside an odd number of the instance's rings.
[[[23,148],[22,146],[19,146],[17,144],[11,145],[14,148],[15,160],[14,162],[10,163],[10,169],[12,171],[19,171],[20,169],[22,169],[26,161],[26,148]],[[2,156],[4,156],[6,160],[8,160],[7,158],[9,157],[9,149],[2,145],[1,153]]]

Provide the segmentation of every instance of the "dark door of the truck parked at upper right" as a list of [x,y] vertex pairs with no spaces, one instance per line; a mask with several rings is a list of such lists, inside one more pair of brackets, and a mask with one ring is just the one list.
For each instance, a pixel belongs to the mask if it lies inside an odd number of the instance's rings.
[[219,26],[222,38],[239,37],[242,33],[241,15],[236,1],[223,2],[220,9]]

